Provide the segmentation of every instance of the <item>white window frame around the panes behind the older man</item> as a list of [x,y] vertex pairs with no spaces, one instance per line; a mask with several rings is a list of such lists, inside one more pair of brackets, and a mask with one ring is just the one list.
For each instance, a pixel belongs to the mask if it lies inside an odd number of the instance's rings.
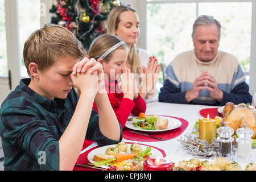
[[140,0],[138,4],[139,17],[141,19],[141,35],[138,41],[138,46],[147,49],[147,5],[152,3],[196,3],[196,16],[199,12],[199,3],[202,2],[251,2],[251,53],[250,53],[250,83],[249,92],[253,95],[256,92],[256,1],[254,0],[162,0],[148,1]]

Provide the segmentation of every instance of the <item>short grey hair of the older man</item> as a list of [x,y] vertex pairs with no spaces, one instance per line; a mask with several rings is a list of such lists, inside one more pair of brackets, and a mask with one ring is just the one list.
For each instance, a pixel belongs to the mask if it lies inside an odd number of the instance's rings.
[[192,38],[195,39],[195,31],[197,26],[203,25],[203,26],[211,26],[212,24],[216,24],[218,28],[218,39],[220,39],[221,36],[221,24],[218,22],[218,20],[214,19],[213,16],[208,15],[200,15],[197,17],[193,24],[193,32],[192,32]]

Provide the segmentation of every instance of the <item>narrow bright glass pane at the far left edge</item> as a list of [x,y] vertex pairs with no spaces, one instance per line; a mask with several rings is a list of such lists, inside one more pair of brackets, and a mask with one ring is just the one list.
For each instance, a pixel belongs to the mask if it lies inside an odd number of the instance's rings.
[[5,0],[0,0],[0,77],[7,77]]

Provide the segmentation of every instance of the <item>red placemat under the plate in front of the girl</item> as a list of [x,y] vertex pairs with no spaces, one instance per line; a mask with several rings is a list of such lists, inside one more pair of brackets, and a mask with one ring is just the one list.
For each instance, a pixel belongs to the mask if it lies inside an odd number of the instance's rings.
[[[174,130],[169,130],[169,131],[163,131],[163,132],[158,132],[158,133],[152,133],[152,132],[151,133],[145,132],[145,133],[150,134],[151,136],[154,136],[154,137],[159,137],[159,138],[163,138],[166,140],[170,140],[170,139],[179,137],[179,135],[181,133],[183,133],[183,131],[188,126],[188,121],[186,121],[183,118],[176,118],[176,117],[171,117],[168,115],[160,115],[160,116],[178,119],[181,122],[181,126]],[[139,131],[139,132],[142,132],[142,131]],[[127,128],[123,129],[123,138],[125,138],[127,140],[138,141],[138,142],[159,142],[159,141],[161,141],[159,139],[154,139],[154,138],[150,138],[150,137],[145,137],[143,135],[131,133],[127,130]]]

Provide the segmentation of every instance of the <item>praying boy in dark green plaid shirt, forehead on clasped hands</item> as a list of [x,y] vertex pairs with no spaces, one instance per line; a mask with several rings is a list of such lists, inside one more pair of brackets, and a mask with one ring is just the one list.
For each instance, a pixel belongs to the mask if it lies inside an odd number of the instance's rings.
[[101,64],[84,58],[71,31],[44,26],[27,39],[23,57],[31,78],[20,80],[0,110],[5,170],[72,170],[85,138],[98,146],[122,140],[108,94],[100,90]]

